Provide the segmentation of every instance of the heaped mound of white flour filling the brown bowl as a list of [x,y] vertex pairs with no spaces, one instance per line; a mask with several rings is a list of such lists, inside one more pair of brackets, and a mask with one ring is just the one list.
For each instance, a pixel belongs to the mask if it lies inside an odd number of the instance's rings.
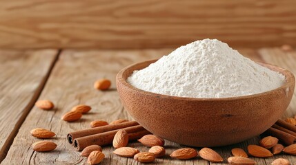
[[262,67],[217,39],[181,46],[133,72],[130,85],[157,94],[188,98],[228,98],[280,87],[282,74]]

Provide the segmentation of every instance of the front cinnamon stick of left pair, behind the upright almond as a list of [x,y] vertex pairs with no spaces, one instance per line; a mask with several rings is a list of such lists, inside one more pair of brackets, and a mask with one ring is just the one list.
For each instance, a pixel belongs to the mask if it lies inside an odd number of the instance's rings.
[[[104,146],[108,144],[112,144],[113,138],[119,129],[112,130],[104,133],[98,133],[95,135],[88,135],[84,137],[75,138],[73,142],[73,146],[77,149],[77,151],[83,150],[86,146],[90,146],[93,144],[97,144],[99,146]],[[141,125],[130,126],[124,128],[128,132],[130,140],[136,140],[141,138],[144,135],[149,134],[150,132],[144,129]]]

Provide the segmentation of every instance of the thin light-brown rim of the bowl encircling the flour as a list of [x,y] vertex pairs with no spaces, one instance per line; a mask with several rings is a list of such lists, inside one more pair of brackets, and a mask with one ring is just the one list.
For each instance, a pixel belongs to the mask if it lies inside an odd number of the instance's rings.
[[[295,86],[295,77],[292,72],[288,71],[287,69],[283,69],[282,67],[278,67],[277,65],[271,65],[269,63],[264,63],[264,62],[259,62],[259,61],[254,61],[255,63],[262,65],[263,67],[267,67],[270,70],[273,70],[275,72],[279,72],[280,74],[283,74],[285,76],[285,83],[276,89],[270,90],[270,91],[264,91],[259,94],[251,94],[251,95],[246,95],[246,96],[235,96],[235,97],[228,97],[228,98],[188,98],[188,97],[180,97],[180,96],[169,96],[169,95],[164,95],[164,94],[157,94],[153,93],[151,91],[144,91],[142,89],[139,89],[137,87],[134,87],[128,83],[126,78],[124,78],[124,74],[126,73],[127,69],[130,67],[135,67],[137,65],[142,65],[144,63],[149,63],[146,67],[148,67],[150,64],[155,63],[159,59],[153,59],[153,60],[148,60],[148,61],[141,61],[139,63],[133,63],[132,65],[128,65],[127,67],[124,67],[124,69],[121,69],[119,73],[116,76],[116,81],[118,83],[121,83],[125,87],[128,87],[132,91],[153,96],[153,97],[158,97],[158,98],[170,98],[170,99],[175,99],[175,100],[190,100],[190,101],[226,101],[226,100],[241,100],[241,99],[246,99],[246,98],[257,98],[257,97],[262,97],[266,96],[269,94],[272,94],[275,91],[279,90],[284,90],[286,91],[287,87],[290,87],[291,85]],[[144,69],[146,67],[143,67],[141,69]],[[133,70],[132,72],[134,72]],[[130,76],[130,75],[129,75]]]

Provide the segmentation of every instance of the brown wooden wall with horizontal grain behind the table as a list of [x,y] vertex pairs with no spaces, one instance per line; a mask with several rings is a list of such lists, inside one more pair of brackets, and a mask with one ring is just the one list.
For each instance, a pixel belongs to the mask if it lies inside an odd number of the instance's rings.
[[0,48],[296,45],[295,0],[0,1]]

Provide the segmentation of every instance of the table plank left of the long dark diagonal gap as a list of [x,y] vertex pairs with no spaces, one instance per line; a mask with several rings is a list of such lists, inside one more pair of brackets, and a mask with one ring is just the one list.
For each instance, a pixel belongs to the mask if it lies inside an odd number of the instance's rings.
[[0,50],[0,162],[40,94],[57,50]]

